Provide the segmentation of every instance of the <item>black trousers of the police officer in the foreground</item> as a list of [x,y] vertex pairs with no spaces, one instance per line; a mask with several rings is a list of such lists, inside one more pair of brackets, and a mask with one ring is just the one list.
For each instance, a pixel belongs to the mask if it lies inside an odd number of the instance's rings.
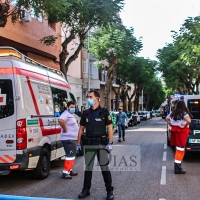
[[88,189],[88,190],[91,188],[94,160],[95,160],[95,157],[97,156],[97,159],[99,162],[98,164],[101,168],[101,173],[103,175],[106,190],[113,191],[114,187],[112,186],[112,176],[108,167],[108,164],[109,164],[108,152],[105,150],[105,145],[101,145],[95,141],[92,142],[91,145],[95,145],[95,146],[92,146],[92,149],[90,149],[90,145],[88,145],[89,149],[87,149],[87,146],[85,147],[85,165],[86,166],[85,166],[83,187],[84,189]]

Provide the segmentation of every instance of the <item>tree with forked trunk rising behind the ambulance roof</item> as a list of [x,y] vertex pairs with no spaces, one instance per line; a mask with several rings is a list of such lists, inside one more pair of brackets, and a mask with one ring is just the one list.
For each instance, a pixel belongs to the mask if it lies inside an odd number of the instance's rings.
[[[68,0],[70,9],[55,13],[48,10],[48,20],[51,23],[61,22],[65,34],[60,53],[60,70],[67,74],[69,65],[78,57],[84,46],[87,33],[92,28],[107,27],[120,21],[118,13],[124,5],[124,0]],[[50,45],[55,37],[47,36],[41,39],[44,44]],[[74,53],[68,58],[68,44],[78,39]],[[52,41],[52,43],[50,42]]]

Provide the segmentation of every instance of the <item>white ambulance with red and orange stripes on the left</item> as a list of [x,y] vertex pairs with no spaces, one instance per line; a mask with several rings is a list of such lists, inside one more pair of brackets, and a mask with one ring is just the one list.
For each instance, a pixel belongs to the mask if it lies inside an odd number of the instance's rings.
[[49,175],[50,161],[65,155],[57,119],[74,99],[61,71],[0,47],[0,175]]

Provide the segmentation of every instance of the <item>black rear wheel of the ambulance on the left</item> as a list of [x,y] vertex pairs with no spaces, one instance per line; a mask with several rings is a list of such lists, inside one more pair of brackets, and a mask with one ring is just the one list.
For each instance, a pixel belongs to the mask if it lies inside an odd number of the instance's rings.
[[40,153],[37,167],[34,169],[34,177],[37,179],[45,179],[50,171],[50,153],[43,148]]

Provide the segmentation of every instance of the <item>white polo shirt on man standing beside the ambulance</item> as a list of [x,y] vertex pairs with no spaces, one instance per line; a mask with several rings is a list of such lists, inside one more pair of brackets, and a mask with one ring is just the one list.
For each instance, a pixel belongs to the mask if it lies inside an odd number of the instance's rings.
[[77,140],[79,126],[73,114],[65,110],[59,119],[63,119],[66,123],[67,132],[62,129],[60,134],[61,140]]

